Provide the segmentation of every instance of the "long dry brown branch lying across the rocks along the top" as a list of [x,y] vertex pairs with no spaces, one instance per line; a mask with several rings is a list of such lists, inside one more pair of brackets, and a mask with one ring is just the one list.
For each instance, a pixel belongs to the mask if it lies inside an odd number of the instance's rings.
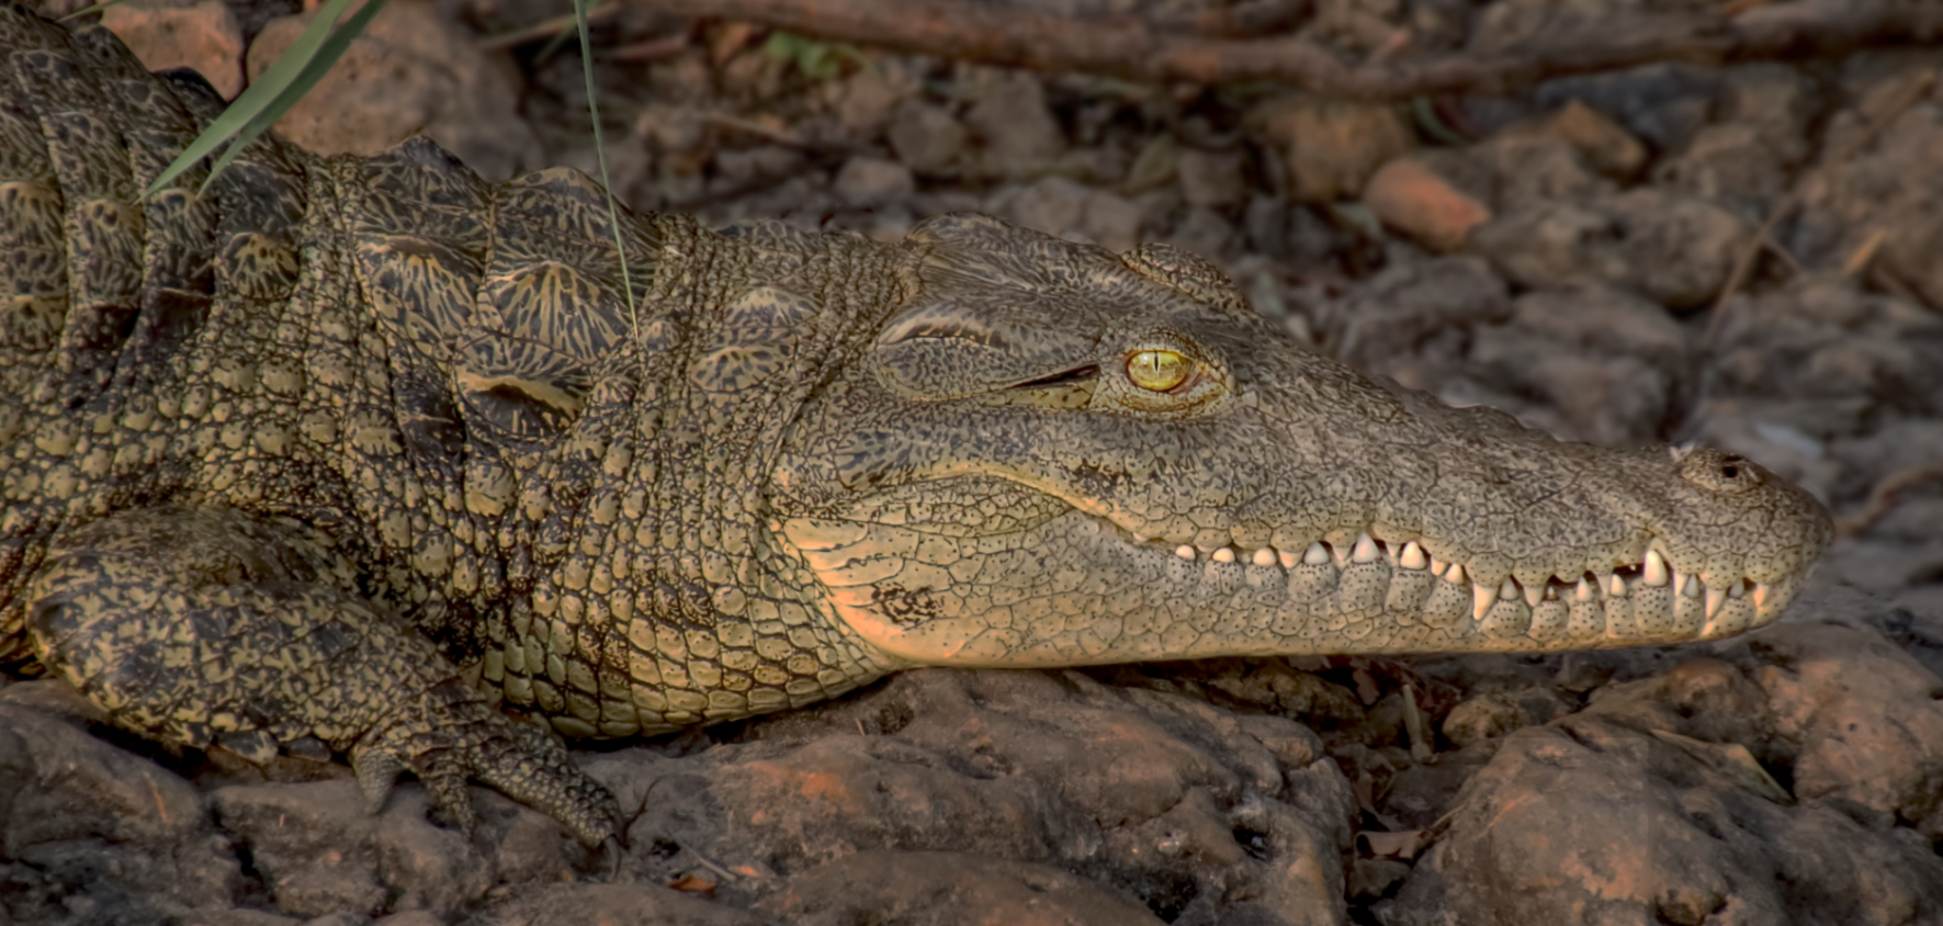
[[[1788,0],[1739,16],[1628,16],[1547,33],[1494,52],[1348,62],[1294,35],[1232,37],[1238,25],[1292,19],[1286,4],[1240,4],[1207,21],[1069,17],[964,0],[630,0],[661,14],[746,19],[826,41],[1071,70],[1137,82],[1280,82],[1354,99],[1424,93],[1506,93],[1570,74],[1685,60],[1698,64],[1826,54],[1865,45],[1927,43],[1943,35],[1943,2]],[[1259,35],[1259,33],[1257,33]]]

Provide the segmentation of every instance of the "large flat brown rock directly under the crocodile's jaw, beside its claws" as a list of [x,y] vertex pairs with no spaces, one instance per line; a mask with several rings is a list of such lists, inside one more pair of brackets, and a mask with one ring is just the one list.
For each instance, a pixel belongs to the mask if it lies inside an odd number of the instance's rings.
[[1218,920],[1253,897],[1319,916],[1263,922],[1346,916],[1354,800],[1312,734],[1074,672],[905,672],[756,742],[587,769],[624,806],[653,796],[633,843],[787,883],[859,852],[970,852],[1078,870],[1156,910]]

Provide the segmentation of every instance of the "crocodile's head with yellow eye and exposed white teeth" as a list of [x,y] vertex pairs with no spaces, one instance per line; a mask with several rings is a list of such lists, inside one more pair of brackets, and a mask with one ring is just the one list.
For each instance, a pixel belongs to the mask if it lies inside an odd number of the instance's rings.
[[997,219],[804,408],[773,528],[911,664],[1552,650],[1772,621],[1828,546],[1720,450],[1615,450],[1306,351],[1209,264]]

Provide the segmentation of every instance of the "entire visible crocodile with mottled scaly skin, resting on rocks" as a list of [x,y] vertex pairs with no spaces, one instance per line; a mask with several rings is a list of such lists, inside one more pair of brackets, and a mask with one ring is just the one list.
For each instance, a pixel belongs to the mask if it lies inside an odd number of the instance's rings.
[[948,215],[624,215],[255,144],[0,6],[0,662],[117,724],[466,778],[581,839],[616,738],[915,664],[1558,650],[1772,621],[1826,513],[1306,353],[1205,262]]

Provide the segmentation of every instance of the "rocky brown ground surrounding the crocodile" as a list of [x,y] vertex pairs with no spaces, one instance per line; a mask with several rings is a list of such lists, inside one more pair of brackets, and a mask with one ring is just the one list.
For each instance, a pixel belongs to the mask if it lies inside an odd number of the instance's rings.
[[[1346,52],[1405,16],[1432,45],[1516,41],[1568,6],[1319,4],[1304,27]],[[150,64],[225,89],[301,25],[274,4],[117,10]],[[494,179],[593,171],[579,62],[478,47],[562,12],[396,0],[284,130],[369,153],[426,126]],[[577,751],[630,813],[618,858],[484,788],[472,839],[416,784],[365,815],[340,765],[169,755],[54,681],[0,678],[0,924],[1943,922],[1943,489],[1910,478],[1943,460],[1937,52],[1650,66],[1426,122],[874,52],[810,74],[734,23],[600,29],[635,208],[892,239],[981,210],[1172,241],[1360,369],[1560,437],[1743,452],[1850,528],[1786,619],[1720,643],[921,670]],[[1366,544],[1177,555],[1422,555]],[[1683,584],[1653,567],[1615,579]]]

